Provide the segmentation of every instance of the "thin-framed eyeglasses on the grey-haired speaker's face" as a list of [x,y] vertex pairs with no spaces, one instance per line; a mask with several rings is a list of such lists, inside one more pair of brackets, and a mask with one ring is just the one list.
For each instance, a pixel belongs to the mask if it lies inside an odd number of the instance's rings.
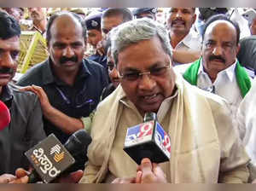
[[166,67],[155,67],[150,69],[148,72],[127,72],[120,74],[118,72],[119,78],[128,80],[128,81],[136,81],[139,78],[142,78],[143,75],[148,75],[149,77],[160,77],[166,73],[168,69],[172,66],[171,60],[169,60],[169,65]]

